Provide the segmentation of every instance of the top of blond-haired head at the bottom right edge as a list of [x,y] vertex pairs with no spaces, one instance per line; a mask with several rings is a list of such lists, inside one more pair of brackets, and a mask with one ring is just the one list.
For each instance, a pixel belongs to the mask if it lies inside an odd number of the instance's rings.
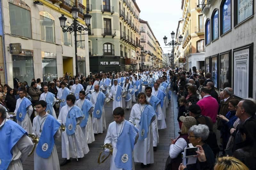
[[221,157],[214,166],[216,170],[249,170],[243,162],[234,157]]

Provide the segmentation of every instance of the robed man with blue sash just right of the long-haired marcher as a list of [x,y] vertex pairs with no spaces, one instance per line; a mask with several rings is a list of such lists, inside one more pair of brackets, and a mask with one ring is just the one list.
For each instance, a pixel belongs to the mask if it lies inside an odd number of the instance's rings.
[[[156,112],[156,119],[152,123],[152,130],[153,130],[153,149],[156,151],[157,143],[159,142],[159,135],[158,135],[158,120],[162,120],[164,115],[161,109],[160,105],[160,100],[156,97],[151,95],[152,93],[152,88],[151,87],[146,87],[145,89],[146,95],[147,95],[147,102],[154,108]],[[165,124],[165,121],[164,121]],[[166,127],[166,124],[165,124]]]

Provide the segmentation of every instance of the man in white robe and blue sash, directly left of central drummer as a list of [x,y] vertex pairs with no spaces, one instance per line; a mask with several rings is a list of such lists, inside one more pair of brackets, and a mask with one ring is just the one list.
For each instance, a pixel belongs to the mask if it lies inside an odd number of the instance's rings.
[[117,84],[117,80],[114,80],[114,86],[110,89],[110,97],[113,98],[113,111],[117,107],[123,107],[122,105],[122,87]]

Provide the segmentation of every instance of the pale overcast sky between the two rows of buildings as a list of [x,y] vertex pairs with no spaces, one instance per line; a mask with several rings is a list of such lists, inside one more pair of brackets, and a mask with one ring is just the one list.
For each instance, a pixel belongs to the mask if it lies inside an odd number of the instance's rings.
[[[140,18],[148,21],[156,39],[159,41],[164,53],[172,48],[164,45],[163,37],[171,41],[171,32],[175,32],[178,21],[182,18],[181,0],[136,0],[140,8]],[[169,53],[171,53],[169,51]]]

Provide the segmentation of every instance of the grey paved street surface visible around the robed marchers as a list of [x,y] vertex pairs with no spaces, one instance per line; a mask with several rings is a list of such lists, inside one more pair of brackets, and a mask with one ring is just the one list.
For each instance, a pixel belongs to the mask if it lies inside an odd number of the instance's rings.
[[[166,111],[166,124],[167,128],[159,131],[159,144],[157,147],[157,151],[154,152],[154,165],[152,164],[150,168],[147,170],[163,170],[165,166],[165,161],[169,155],[169,143],[170,138],[177,137],[179,131],[179,124],[177,121],[177,97],[175,94],[172,95],[171,102],[169,103],[169,107]],[[134,103],[133,103],[134,104]],[[112,102],[109,102],[105,105],[105,116],[107,126],[113,122],[112,118]],[[128,120],[130,116],[130,110],[125,110],[125,118]],[[175,113],[175,114],[173,114]],[[175,123],[174,123],[175,122]],[[103,145],[104,139],[106,137],[107,130],[103,132],[103,134],[98,134],[95,136],[95,141],[92,144],[89,144],[90,152],[84,156],[84,158],[80,159],[78,162],[75,159],[71,159],[72,161],[65,166],[60,166],[60,169],[72,169],[72,170],[100,170],[100,169],[109,169],[110,167],[110,158],[107,159],[103,164],[98,164],[98,156],[100,151],[102,150],[100,145]],[[56,148],[58,151],[58,156],[60,163],[64,160],[61,158],[61,139],[56,142]],[[23,163],[24,170],[33,170],[34,166],[34,158],[33,156],[29,157]],[[135,169],[141,169],[140,163],[135,163]]]

